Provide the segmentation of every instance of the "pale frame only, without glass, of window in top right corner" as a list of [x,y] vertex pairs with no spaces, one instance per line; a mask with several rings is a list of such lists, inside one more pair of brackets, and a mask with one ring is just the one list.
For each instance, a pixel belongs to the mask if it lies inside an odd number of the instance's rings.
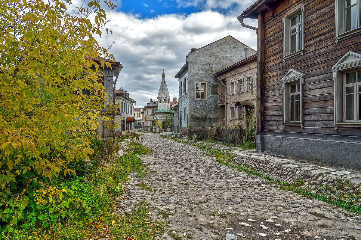
[[350,36],[351,34],[357,33],[361,31],[361,0],[356,1],[356,12],[357,12],[357,27],[355,29],[345,31],[346,23],[345,23],[345,4],[346,0],[336,0],[336,8],[335,8],[335,40],[336,43],[343,37]]

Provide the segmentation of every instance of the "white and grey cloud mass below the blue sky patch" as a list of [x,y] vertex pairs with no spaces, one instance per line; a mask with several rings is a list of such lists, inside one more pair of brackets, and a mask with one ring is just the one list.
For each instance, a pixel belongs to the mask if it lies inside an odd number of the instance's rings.
[[[140,19],[132,13],[107,11],[108,19],[116,20],[106,26],[113,35],[103,34],[98,41],[108,46],[116,39],[109,52],[124,66],[116,87],[123,87],[136,100],[136,106],[143,107],[149,97],[157,97],[162,69],[170,95],[178,97],[178,80],[174,76],[192,47],[199,48],[231,35],[256,49],[256,33],[240,25],[239,14],[204,10],[190,15],[164,14]],[[256,26],[255,21],[247,23]]]

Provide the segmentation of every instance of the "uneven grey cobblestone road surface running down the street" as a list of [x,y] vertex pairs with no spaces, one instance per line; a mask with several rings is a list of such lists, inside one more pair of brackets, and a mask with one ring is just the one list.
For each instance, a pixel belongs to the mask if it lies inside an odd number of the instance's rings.
[[146,133],[143,144],[152,148],[141,157],[148,174],[131,174],[117,210],[147,200],[153,221],[169,221],[160,239],[361,239],[357,214],[281,190],[196,146]]

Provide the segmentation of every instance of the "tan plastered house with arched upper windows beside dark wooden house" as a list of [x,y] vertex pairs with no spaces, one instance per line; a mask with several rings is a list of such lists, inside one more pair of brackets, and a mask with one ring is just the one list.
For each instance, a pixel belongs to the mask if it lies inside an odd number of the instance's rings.
[[257,55],[247,48],[246,58],[215,75],[219,79],[218,122],[243,127],[250,124],[256,109]]

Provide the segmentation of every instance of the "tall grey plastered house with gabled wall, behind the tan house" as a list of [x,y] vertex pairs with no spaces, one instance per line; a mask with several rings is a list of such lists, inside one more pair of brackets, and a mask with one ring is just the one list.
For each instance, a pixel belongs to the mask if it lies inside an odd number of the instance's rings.
[[179,80],[179,128],[183,134],[189,127],[218,122],[218,79],[214,74],[244,59],[247,47],[227,36],[188,53],[186,64],[175,75]]

